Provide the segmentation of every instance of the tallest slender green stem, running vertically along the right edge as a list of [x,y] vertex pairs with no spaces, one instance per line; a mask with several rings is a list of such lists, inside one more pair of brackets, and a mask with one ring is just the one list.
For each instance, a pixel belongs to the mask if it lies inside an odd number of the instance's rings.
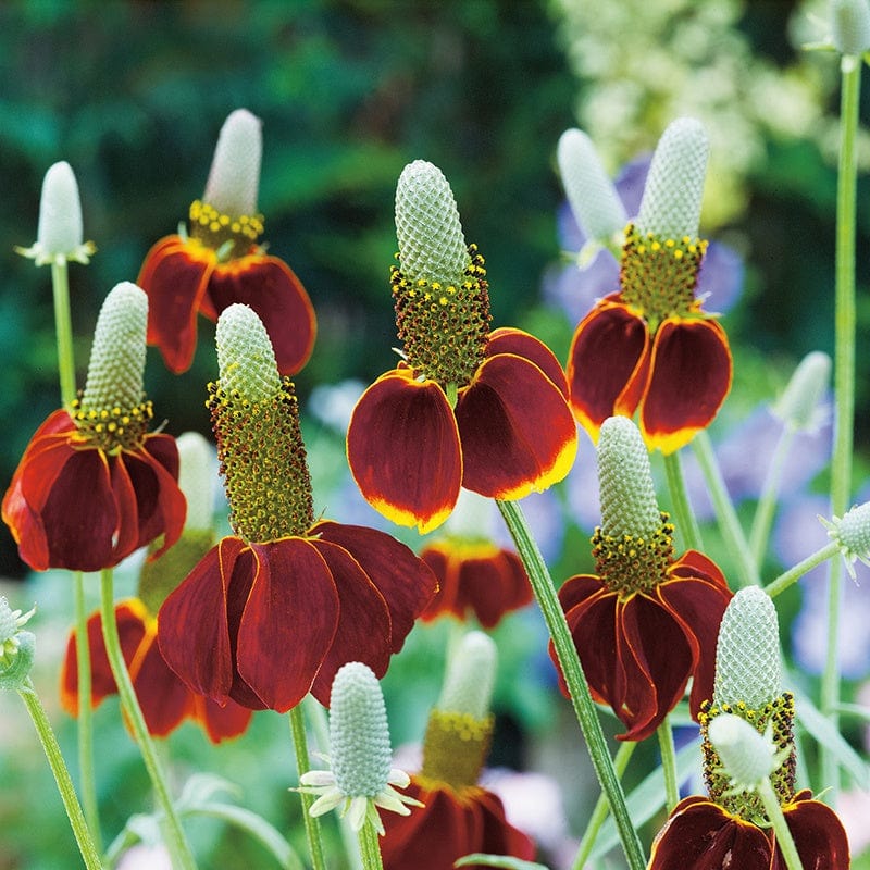
[[[855,142],[861,89],[861,59],[850,54],[841,62],[840,160],[836,190],[836,264],[834,290],[834,446],[831,459],[831,513],[842,517],[852,490],[852,448],[855,424],[855,197],[858,162]],[[837,726],[841,667],[840,611],[842,608],[842,563],[831,563],[828,580],[828,654],[821,683],[822,713]],[[836,800],[837,765],[830,747],[821,746],[821,771]]]

